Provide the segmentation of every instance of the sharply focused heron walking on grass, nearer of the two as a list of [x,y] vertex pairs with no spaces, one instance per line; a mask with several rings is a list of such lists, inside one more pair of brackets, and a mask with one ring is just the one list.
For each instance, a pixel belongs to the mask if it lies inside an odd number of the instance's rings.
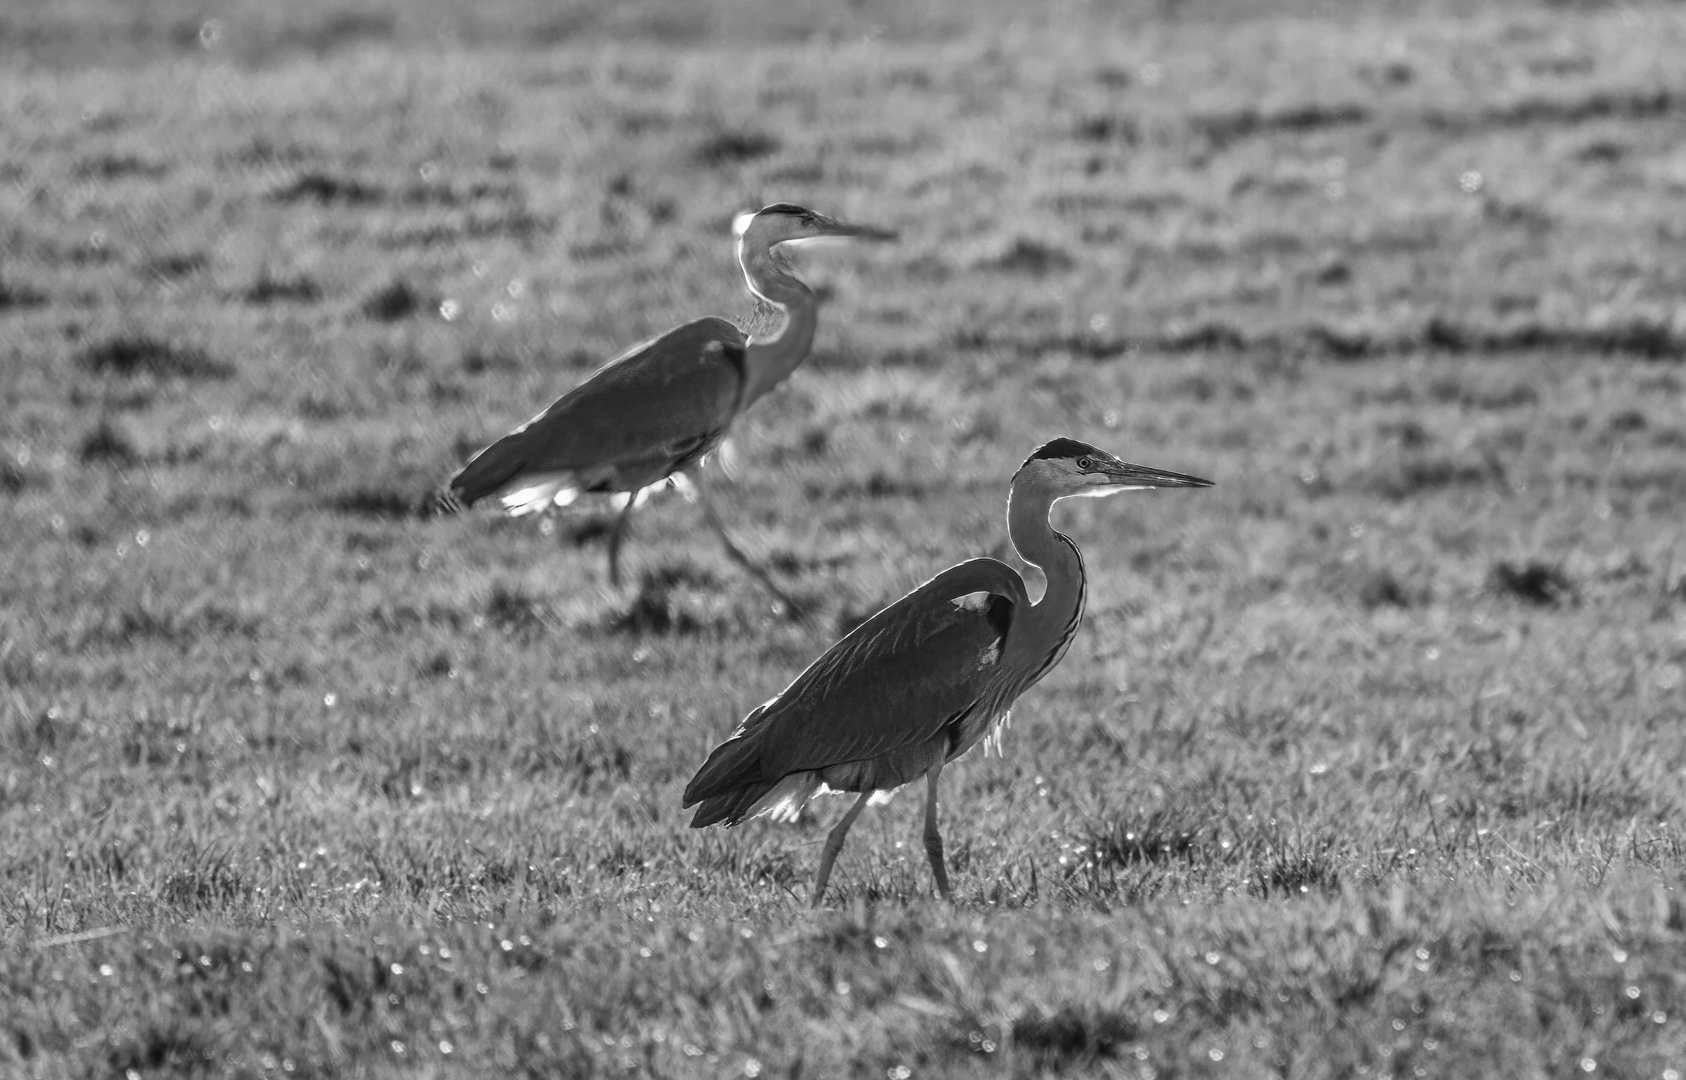
[[862,809],[926,778],[926,854],[948,900],[937,832],[937,775],[980,741],[1000,738],[1013,701],[1045,676],[1082,618],[1082,556],[1055,532],[1060,499],[1145,487],[1211,487],[1211,480],[1120,462],[1055,438],[1013,475],[1007,534],[1018,558],[1047,576],[1030,601],[1018,573],[998,559],[951,566],[883,608],[808,666],[784,692],[752,711],[715,746],[685,789],[701,804],[693,829],[760,814],[796,821],[821,789],[860,792],[826,836],[813,903]]

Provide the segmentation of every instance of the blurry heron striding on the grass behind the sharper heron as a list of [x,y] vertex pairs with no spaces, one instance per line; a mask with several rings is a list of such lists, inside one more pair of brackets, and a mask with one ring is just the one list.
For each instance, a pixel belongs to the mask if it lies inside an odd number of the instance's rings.
[[[745,335],[725,318],[705,317],[634,345],[475,453],[450,479],[438,505],[460,511],[497,495],[504,511],[521,516],[566,505],[583,492],[619,492],[626,505],[609,534],[609,581],[619,585],[620,541],[641,494],[663,480],[683,480],[681,473],[720,446],[738,413],[808,357],[819,303],[792,273],[786,251],[823,238],[895,238],[789,202],[740,214],[733,231],[744,281],[757,300],[782,312],[781,327]],[[688,487],[701,499],[727,554],[794,608],[727,534],[701,484]]]

